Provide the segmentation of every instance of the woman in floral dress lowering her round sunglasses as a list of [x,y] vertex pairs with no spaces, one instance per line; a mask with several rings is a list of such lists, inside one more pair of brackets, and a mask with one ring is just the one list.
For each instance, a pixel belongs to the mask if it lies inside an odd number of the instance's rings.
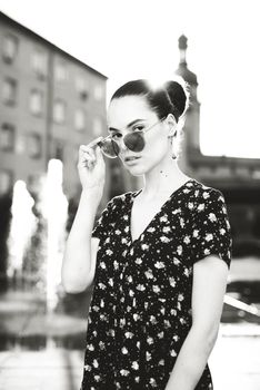
[[[184,175],[172,156],[187,107],[179,82],[127,82],[111,98],[109,136],[80,146],[82,195],[62,281],[72,293],[94,283],[82,390],[212,389],[207,361],[231,237],[222,194]],[[102,152],[141,175],[143,188],[113,197],[93,228]]]

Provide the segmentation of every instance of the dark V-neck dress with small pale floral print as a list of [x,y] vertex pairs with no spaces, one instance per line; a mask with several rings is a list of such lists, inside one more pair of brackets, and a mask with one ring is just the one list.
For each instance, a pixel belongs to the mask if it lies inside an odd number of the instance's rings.
[[[193,264],[217,254],[230,267],[231,233],[222,193],[191,178],[132,241],[141,191],[113,197],[100,238],[81,390],[166,389],[192,324]],[[208,364],[194,390],[213,389]]]

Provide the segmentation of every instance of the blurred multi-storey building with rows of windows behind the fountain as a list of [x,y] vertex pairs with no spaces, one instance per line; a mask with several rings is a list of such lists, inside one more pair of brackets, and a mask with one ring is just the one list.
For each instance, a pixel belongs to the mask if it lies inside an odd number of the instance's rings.
[[0,195],[18,179],[37,191],[59,158],[71,198],[79,146],[106,133],[107,77],[1,12],[0,51]]

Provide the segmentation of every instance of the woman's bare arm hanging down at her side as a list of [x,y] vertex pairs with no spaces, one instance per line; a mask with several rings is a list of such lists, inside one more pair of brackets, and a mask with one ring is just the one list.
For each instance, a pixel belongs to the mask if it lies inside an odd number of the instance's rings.
[[166,390],[193,390],[216,343],[228,265],[209,255],[193,265],[192,326],[181,347]]

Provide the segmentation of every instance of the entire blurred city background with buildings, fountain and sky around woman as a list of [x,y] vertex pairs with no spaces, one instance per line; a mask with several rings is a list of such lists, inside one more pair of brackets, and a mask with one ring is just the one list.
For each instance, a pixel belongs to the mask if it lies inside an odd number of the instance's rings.
[[[226,198],[233,260],[210,368],[216,390],[260,388],[257,1],[0,0],[0,390],[79,389],[91,289],[60,282],[81,144],[107,134],[122,82],[183,77],[180,167]],[[142,186],[106,159],[107,202]]]

